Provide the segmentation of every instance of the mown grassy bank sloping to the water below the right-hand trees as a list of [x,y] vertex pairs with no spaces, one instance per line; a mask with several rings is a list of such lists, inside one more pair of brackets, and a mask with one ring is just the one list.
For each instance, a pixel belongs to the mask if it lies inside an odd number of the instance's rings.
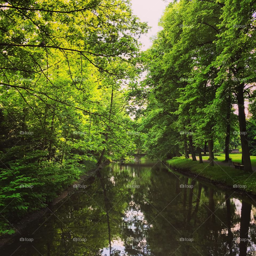
[[242,170],[226,166],[209,166],[208,163],[194,162],[184,158],[170,159],[167,163],[172,168],[191,172],[211,181],[233,188],[237,187],[256,195],[256,173],[244,173]]

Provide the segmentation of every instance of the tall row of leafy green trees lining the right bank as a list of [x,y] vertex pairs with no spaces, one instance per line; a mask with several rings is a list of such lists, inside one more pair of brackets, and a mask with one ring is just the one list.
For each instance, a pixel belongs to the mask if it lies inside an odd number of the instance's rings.
[[[245,171],[255,154],[254,1],[173,1],[143,55],[139,131],[161,159],[240,147]],[[141,97],[141,95],[144,95]],[[143,99],[145,101],[145,99]],[[249,104],[249,115],[246,107]],[[143,118],[140,118],[140,115]],[[238,138],[240,142],[238,142]],[[160,157],[159,156],[159,157]]]

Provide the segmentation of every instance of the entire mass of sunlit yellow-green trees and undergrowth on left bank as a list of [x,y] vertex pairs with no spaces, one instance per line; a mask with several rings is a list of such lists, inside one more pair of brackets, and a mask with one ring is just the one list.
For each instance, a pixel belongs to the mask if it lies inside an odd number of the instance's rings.
[[105,158],[135,151],[128,86],[147,25],[129,1],[0,4],[0,214],[37,210]]

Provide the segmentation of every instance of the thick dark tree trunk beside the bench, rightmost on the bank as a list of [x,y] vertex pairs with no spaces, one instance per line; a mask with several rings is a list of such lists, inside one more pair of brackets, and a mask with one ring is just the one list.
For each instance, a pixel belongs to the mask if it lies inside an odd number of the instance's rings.
[[246,130],[246,116],[245,116],[245,101],[243,96],[243,84],[238,88],[237,92],[237,103],[238,103],[238,120],[240,129],[240,139],[243,153],[243,165],[245,172],[251,172],[251,159],[249,152],[249,145],[247,140],[247,130]]

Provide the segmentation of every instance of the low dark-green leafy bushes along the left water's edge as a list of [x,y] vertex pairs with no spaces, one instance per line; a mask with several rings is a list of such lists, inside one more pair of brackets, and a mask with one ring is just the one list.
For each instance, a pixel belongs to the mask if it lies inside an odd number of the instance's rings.
[[[82,164],[78,164],[77,159],[62,164],[39,161],[37,153],[40,155],[40,152],[33,152],[19,160],[6,162],[6,168],[0,168],[1,214],[8,221],[20,219],[29,212],[47,206],[83,173],[95,166],[90,160]],[[0,222],[0,225],[0,235],[14,233],[7,221]]]

